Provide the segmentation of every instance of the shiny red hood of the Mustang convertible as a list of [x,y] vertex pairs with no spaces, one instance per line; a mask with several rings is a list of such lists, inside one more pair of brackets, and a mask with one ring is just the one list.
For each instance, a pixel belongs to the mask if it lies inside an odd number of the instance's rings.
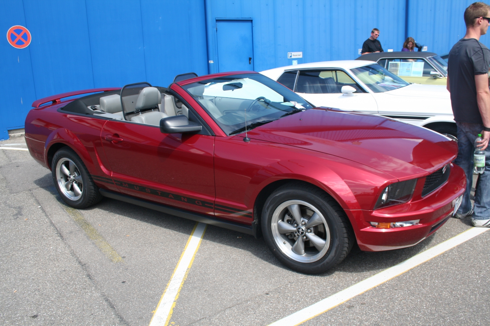
[[456,141],[382,116],[317,108],[248,132],[250,139],[287,144],[368,165],[399,180],[432,173],[456,158]]

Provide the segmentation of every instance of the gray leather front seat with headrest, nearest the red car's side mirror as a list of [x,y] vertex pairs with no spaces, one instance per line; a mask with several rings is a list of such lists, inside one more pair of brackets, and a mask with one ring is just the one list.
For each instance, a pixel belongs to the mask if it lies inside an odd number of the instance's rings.
[[[155,87],[145,87],[138,95],[135,110],[158,110],[158,102],[162,102],[162,95],[160,94],[160,91],[158,91],[158,89]],[[160,120],[167,116],[168,115],[160,111],[150,111],[131,117],[131,121],[159,126]]]

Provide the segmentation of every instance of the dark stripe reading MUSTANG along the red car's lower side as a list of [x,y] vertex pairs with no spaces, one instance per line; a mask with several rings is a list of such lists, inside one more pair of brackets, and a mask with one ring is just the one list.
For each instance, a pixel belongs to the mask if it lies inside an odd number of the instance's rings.
[[92,175],[92,178],[98,182],[108,183],[108,184],[112,184],[112,185],[115,184],[116,186],[121,186],[121,187],[128,188],[131,190],[137,190],[137,191],[141,191],[144,193],[149,193],[149,194],[152,194],[155,196],[172,199],[172,200],[179,201],[179,202],[185,202],[185,203],[196,205],[196,206],[201,206],[201,207],[206,207],[209,209],[219,210],[219,211],[229,213],[229,214],[234,214],[234,215],[238,215],[238,216],[244,216],[244,217],[252,218],[252,212],[250,212],[248,210],[240,210],[240,209],[237,209],[234,207],[223,206],[223,205],[214,205],[213,203],[206,202],[203,200],[198,200],[198,199],[191,198],[191,197],[177,195],[175,193],[157,190],[157,189],[153,189],[153,188],[148,188],[145,186],[134,185],[134,184],[130,184],[130,183],[127,183],[127,182],[124,182],[121,180],[114,180],[114,182],[113,182],[112,179],[110,179],[110,178],[101,177],[101,176],[97,176],[97,175]]

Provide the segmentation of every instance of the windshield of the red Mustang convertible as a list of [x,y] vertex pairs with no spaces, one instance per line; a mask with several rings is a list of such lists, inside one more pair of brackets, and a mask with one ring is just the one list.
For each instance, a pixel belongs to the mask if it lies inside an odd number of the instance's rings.
[[208,79],[182,87],[227,135],[294,114],[311,106],[272,79],[246,73]]

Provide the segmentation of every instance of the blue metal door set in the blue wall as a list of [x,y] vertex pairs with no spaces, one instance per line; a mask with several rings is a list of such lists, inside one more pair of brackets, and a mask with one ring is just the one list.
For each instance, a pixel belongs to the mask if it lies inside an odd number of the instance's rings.
[[216,21],[220,72],[253,70],[252,21]]

